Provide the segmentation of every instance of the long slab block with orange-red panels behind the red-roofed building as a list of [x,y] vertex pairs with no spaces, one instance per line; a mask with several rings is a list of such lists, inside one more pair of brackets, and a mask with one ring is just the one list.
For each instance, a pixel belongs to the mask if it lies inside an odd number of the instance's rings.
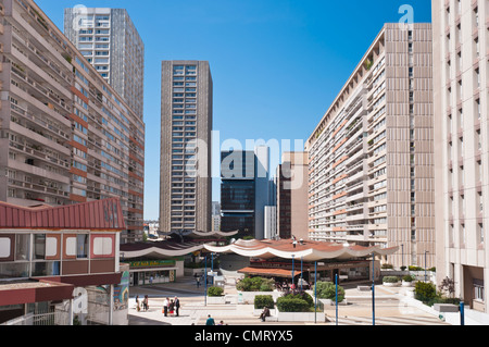
[[32,0],[0,4],[0,200],[121,198],[142,240],[145,124]]

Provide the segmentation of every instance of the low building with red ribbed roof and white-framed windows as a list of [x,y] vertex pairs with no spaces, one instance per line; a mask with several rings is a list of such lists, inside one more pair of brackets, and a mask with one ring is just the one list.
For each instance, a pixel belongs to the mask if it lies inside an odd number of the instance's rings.
[[127,325],[124,228],[117,198],[66,207],[0,202],[0,324]]

